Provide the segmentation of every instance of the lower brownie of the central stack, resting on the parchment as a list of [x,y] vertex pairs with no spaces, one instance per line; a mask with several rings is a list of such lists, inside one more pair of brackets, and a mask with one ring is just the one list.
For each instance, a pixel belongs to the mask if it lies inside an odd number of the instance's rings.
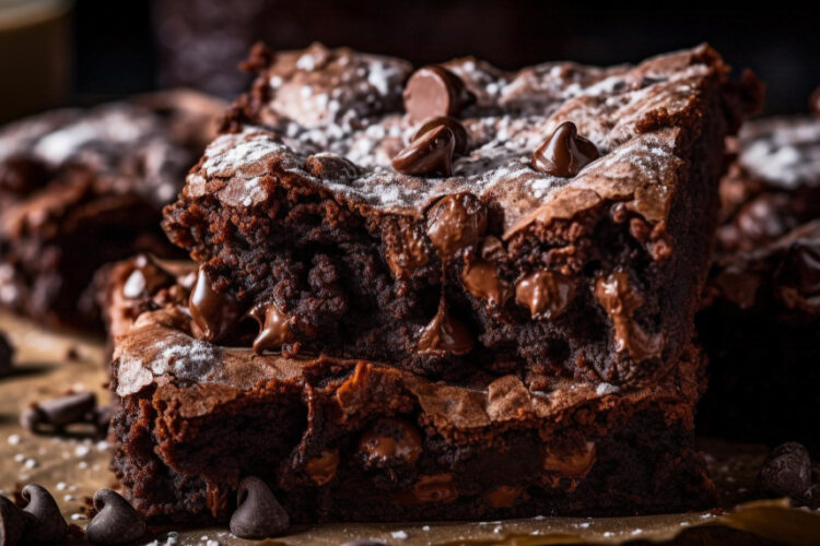
[[226,521],[241,478],[295,522],[629,514],[707,507],[694,349],[635,389],[433,382],[376,363],[196,340],[179,307],[117,339],[113,467],[145,517]]

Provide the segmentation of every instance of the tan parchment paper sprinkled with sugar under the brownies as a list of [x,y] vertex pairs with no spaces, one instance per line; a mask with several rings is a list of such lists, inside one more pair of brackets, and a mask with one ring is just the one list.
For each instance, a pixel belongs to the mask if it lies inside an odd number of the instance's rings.
[[[104,347],[98,340],[44,331],[33,323],[0,313],[0,330],[17,348],[17,371],[0,379],[0,490],[11,496],[28,483],[39,483],[57,498],[69,523],[84,527],[84,509],[101,487],[116,487],[108,470],[106,443],[83,437],[34,436],[19,425],[30,402],[93,390],[101,403]],[[73,351],[72,351],[73,349]],[[70,355],[70,353],[74,355]],[[70,357],[72,356],[72,357]],[[789,508],[786,500],[753,499],[757,471],[766,449],[704,440],[713,478],[724,507],[708,512],[635,518],[535,518],[469,523],[338,523],[291,529],[286,536],[262,544],[339,545],[353,539],[388,544],[820,544],[820,512]],[[739,505],[739,506],[738,506]],[[159,544],[253,544],[226,529],[153,529]],[[71,544],[83,544],[72,538]]]

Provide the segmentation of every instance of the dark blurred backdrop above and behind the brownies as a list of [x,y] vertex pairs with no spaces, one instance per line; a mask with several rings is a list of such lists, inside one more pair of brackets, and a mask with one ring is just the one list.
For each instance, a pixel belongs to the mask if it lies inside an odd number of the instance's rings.
[[673,9],[647,10],[623,2],[609,9],[555,3],[75,0],[68,15],[72,75],[63,100],[91,104],[175,85],[232,97],[247,83],[236,64],[259,39],[274,49],[320,40],[418,64],[475,55],[509,69],[557,59],[635,62],[708,41],[734,67],[751,68],[768,83],[768,112],[804,111],[820,85],[817,7],[768,2],[765,9],[747,3],[728,10],[668,2]]

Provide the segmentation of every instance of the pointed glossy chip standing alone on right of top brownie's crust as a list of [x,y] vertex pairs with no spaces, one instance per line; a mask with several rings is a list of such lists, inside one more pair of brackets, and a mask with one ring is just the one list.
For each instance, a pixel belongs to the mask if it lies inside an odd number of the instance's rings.
[[532,168],[562,178],[573,177],[600,154],[578,134],[575,123],[564,121],[532,154]]

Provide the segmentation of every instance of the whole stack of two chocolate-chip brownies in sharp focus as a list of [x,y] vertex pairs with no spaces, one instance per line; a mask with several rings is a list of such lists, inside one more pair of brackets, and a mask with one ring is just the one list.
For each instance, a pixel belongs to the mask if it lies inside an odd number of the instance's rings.
[[272,55],[141,259],[114,468],[148,517],[659,512],[714,501],[693,446],[724,140],[760,99],[706,46],[609,69],[413,71]]

